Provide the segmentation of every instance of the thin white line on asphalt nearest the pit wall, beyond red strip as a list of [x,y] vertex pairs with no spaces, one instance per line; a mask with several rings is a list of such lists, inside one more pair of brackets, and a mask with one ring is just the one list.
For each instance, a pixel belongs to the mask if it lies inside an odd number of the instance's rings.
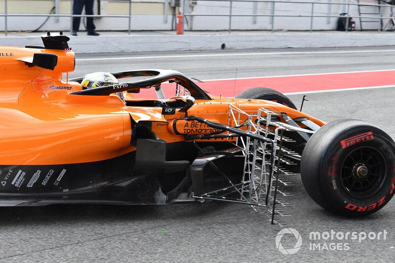
[[97,60],[128,60],[149,58],[197,58],[197,57],[227,57],[227,56],[258,56],[258,55],[304,55],[304,54],[344,54],[344,53],[394,53],[395,49],[387,50],[345,50],[345,51],[298,51],[298,52],[255,52],[255,53],[225,53],[201,55],[170,55],[170,56],[140,56],[140,57],[109,57],[109,58],[79,58],[76,61]]

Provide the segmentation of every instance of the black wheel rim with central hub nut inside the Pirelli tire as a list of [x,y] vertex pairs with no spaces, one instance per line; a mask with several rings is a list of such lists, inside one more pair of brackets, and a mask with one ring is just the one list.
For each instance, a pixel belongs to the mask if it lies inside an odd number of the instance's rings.
[[340,169],[342,187],[353,197],[368,198],[379,191],[387,177],[387,161],[373,147],[350,151]]

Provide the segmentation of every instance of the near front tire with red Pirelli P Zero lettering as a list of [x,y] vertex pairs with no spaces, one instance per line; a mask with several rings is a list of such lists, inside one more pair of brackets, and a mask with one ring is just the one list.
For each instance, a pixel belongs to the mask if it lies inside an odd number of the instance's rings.
[[350,217],[372,214],[395,192],[395,144],[372,124],[334,121],[307,142],[300,173],[306,191],[323,208]]

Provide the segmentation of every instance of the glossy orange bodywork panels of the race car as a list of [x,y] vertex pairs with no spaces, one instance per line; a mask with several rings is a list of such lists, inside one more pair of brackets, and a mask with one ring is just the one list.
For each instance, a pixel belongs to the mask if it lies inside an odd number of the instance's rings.
[[[71,50],[18,47],[0,50],[0,165],[71,164],[121,156],[136,150],[130,143],[133,123],[143,121],[151,122],[152,132],[167,143],[185,141],[184,134],[175,133],[168,125],[185,117],[183,109],[163,115],[159,107],[126,106],[113,94],[70,94],[82,89],[78,82],[67,80],[67,74],[75,67]],[[25,62],[36,53],[55,54],[58,62],[54,70]],[[126,97],[128,100],[138,100],[138,94]],[[319,126],[325,124],[275,102],[219,97],[197,100],[188,109],[188,115],[227,125],[229,104],[246,113],[266,107],[285,112],[291,118],[306,116]],[[182,125],[189,124],[180,122],[177,129],[182,129]]]

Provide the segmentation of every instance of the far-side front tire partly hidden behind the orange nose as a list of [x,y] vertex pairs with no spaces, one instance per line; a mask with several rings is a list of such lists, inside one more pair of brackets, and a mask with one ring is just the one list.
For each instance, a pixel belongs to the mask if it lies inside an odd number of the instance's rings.
[[250,88],[243,92],[237,94],[236,99],[257,99],[257,100],[267,100],[274,101],[285,105],[291,109],[297,110],[295,104],[288,99],[284,94],[270,88]]

